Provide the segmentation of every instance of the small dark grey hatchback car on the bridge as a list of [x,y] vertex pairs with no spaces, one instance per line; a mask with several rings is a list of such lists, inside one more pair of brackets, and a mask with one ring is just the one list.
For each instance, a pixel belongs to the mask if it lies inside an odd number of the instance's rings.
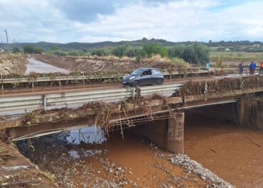
[[141,85],[163,84],[163,74],[155,68],[139,68],[131,74],[126,74],[122,77],[124,87],[131,85],[139,87]]

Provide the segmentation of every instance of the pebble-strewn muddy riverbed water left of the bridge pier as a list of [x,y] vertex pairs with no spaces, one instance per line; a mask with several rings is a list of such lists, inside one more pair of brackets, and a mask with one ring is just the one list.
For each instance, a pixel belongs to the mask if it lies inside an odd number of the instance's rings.
[[226,187],[181,167],[176,155],[129,131],[124,131],[124,140],[120,131],[106,138],[100,129],[88,128],[31,143],[34,152],[26,142],[18,147],[41,170],[51,172],[60,187]]

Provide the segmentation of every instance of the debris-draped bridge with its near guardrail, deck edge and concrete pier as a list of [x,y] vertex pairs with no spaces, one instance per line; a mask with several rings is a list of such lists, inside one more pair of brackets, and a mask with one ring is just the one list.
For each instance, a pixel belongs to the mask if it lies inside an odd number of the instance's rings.
[[[263,99],[262,76],[206,78],[137,89],[103,88],[1,96],[0,128],[12,139],[19,140],[73,126],[96,125],[106,132],[114,127],[136,127],[136,133],[161,148],[183,153],[184,111],[233,104],[233,109],[213,109],[211,113],[227,116],[234,111],[238,116],[237,101],[244,97]],[[25,109],[26,113],[17,115]],[[262,106],[259,105],[258,111],[257,116],[247,121],[263,128]]]

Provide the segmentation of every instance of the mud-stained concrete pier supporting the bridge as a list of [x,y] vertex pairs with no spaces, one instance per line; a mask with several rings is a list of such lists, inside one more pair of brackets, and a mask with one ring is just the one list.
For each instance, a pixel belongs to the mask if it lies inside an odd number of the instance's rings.
[[137,126],[135,132],[146,137],[159,148],[171,153],[183,154],[183,112],[174,113],[174,118],[152,121],[142,126]]

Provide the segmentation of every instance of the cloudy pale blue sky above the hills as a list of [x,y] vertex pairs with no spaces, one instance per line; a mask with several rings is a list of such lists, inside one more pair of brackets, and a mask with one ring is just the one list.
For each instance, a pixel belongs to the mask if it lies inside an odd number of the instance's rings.
[[263,41],[263,0],[0,0],[0,40]]

